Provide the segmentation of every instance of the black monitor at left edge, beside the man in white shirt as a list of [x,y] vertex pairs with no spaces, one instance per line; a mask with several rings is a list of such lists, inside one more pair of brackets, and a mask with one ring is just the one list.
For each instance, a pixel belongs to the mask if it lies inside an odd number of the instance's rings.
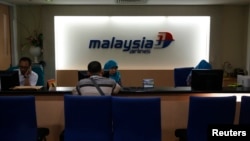
[[6,71],[0,70],[1,90],[9,90],[14,86],[19,86],[19,74],[17,70]]

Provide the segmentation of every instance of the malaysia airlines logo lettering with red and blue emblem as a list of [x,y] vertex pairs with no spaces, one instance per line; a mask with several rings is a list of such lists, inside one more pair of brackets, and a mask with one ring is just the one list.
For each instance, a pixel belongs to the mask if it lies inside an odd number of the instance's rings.
[[146,37],[136,40],[121,40],[116,37],[109,40],[93,39],[89,41],[89,49],[121,49],[123,52],[130,54],[149,54],[152,49],[167,48],[173,41],[171,33],[159,32],[156,40],[147,39]]

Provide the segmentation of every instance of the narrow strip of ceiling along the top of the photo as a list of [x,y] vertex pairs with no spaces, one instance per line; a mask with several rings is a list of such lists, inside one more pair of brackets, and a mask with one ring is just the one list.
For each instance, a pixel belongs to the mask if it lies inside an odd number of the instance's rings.
[[250,4],[250,0],[0,0],[14,5],[228,5]]

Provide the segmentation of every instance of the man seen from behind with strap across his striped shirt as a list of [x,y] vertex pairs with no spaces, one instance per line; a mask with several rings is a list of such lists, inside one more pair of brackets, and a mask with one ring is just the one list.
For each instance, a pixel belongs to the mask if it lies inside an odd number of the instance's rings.
[[90,78],[81,79],[73,90],[73,94],[79,95],[111,95],[120,91],[121,87],[115,80],[103,77],[101,63],[92,61],[88,64]]

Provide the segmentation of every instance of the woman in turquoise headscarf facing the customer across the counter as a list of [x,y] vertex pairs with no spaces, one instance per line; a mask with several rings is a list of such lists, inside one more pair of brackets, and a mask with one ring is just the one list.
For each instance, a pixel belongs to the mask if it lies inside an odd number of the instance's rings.
[[114,79],[121,86],[121,74],[118,71],[118,64],[115,60],[108,60],[103,69],[109,72],[109,78]]

